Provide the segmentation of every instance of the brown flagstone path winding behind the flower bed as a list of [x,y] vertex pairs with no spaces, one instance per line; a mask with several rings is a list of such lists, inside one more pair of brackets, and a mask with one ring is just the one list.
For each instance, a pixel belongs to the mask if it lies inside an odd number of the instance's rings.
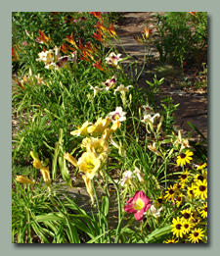
[[[162,15],[163,13],[159,14]],[[133,38],[133,35],[144,31],[144,26],[150,28],[155,27],[154,15],[154,12],[124,13],[124,20],[118,25],[117,29],[115,29],[127,54],[133,57],[131,61],[136,60],[139,64],[139,72],[142,68],[145,48]],[[116,41],[112,42],[118,51],[123,54],[122,57],[125,57],[126,55],[123,53],[120,44]],[[158,58],[159,55],[156,48],[154,45],[151,46],[151,53],[154,55],[154,58]],[[126,63],[128,64],[129,60],[127,60]],[[150,69],[151,67],[148,66],[147,63],[144,73],[138,80],[139,86],[148,86],[146,80],[150,79],[148,76]],[[175,73],[175,71],[173,72]],[[176,130],[181,129],[186,136],[190,131],[192,133],[192,139],[199,140],[198,133],[188,125],[188,122],[190,122],[207,138],[207,97],[199,94],[190,95],[184,91],[173,88],[171,84],[166,85],[165,83],[161,85],[161,90],[163,96],[172,95],[174,104],[180,103],[178,110],[174,114],[174,118],[176,119]]]

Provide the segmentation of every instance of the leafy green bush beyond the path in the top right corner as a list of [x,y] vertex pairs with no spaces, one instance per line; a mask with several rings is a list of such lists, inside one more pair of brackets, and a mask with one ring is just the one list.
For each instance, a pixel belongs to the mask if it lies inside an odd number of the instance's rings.
[[[167,57],[172,63],[198,57],[207,45],[207,13],[198,12],[192,15],[187,12],[168,12],[164,16],[156,15],[158,21],[159,39],[155,40],[156,48],[160,54],[160,62],[165,63]],[[206,51],[203,53],[204,56]]]

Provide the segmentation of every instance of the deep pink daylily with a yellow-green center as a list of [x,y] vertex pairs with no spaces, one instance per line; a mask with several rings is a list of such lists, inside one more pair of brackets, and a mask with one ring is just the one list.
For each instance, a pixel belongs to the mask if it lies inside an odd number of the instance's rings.
[[150,198],[144,191],[136,191],[134,196],[127,201],[124,211],[133,213],[138,222],[143,220],[144,213],[151,207]]

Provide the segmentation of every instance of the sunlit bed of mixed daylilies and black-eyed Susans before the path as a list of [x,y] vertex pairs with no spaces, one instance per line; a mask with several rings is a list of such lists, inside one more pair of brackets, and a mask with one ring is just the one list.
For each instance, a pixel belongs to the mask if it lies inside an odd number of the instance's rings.
[[[164,78],[141,89],[125,73],[119,14],[12,18],[12,242],[207,243],[205,137],[174,131]],[[151,33],[135,37],[146,50]]]

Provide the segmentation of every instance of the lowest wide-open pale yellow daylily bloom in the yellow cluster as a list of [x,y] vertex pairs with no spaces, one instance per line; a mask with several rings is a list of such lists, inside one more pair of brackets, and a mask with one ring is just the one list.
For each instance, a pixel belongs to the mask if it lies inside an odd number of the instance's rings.
[[86,174],[88,179],[93,179],[101,166],[101,162],[97,154],[85,152],[79,158],[77,166],[79,171]]

